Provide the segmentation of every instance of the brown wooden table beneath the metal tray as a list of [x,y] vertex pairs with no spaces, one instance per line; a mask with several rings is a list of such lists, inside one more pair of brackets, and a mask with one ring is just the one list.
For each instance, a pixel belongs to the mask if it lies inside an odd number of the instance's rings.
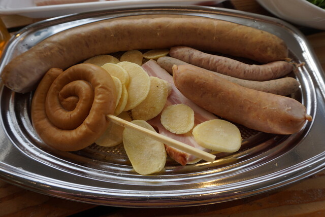
[[[270,15],[254,0],[233,0],[237,10]],[[1,16],[10,30],[39,21]],[[325,31],[302,29],[325,71]],[[306,30],[306,31],[305,31]],[[182,208],[119,208],[54,198],[0,180],[0,216],[325,216],[325,170],[295,184],[231,202]]]

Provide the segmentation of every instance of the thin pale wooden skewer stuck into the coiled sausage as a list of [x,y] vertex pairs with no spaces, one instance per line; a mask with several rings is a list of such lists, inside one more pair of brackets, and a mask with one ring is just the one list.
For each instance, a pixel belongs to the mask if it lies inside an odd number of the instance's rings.
[[185,144],[183,142],[180,142],[175,139],[169,138],[167,136],[161,135],[154,131],[148,130],[144,127],[138,126],[131,122],[125,121],[125,120],[118,118],[114,115],[107,115],[106,118],[108,120],[112,121],[113,123],[118,124],[124,128],[127,127],[127,128],[138,130],[142,133],[147,134],[150,138],[156,139],[157,141],[163,142],[163,143],[167,144],[168,146],[179,149],[179,150],[186,152],[188,154],[194,155],[194,156],[201,158],[205,161],[213,162],[215,159],[215,155],[212,155],[212,154],[202,151],[200,149],[193,148],[193,147],[189,146],[188,144]]

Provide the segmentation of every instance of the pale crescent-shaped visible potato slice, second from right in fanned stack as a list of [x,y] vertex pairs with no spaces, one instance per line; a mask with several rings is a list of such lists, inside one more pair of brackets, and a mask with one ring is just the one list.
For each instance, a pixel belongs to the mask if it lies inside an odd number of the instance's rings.
[[117,65],[124,68],[129,76],[127,88],[128,98],[124,111],[132,110],[147,96],[150,89],[150,79],[147,72],[136,63],[119,62]]

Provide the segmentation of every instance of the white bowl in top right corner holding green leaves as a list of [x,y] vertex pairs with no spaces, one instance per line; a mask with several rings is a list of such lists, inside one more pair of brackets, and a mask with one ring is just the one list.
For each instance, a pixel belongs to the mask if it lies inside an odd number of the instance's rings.
[[325,30],[325,10],[307,0],[257,0],[257,2],[281,19]]

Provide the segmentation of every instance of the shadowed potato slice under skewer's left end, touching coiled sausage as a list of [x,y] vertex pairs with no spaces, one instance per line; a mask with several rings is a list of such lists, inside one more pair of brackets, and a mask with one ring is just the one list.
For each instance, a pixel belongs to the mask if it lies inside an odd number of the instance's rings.
[[[129,116],[129,113],[123,112],[119,116],[117,116],[125,121],[132,121],[131,116]],[[99,146],[104,147],[113,147],[117,146],[118,144],[122,143],[122,133],[123,133],[124,127],[121,127],[117,124],[114,124],[113,122],[110,122],[108,124],[108,127],[106,131],[103,133],[103,135],[98,138],[95,143]]]

